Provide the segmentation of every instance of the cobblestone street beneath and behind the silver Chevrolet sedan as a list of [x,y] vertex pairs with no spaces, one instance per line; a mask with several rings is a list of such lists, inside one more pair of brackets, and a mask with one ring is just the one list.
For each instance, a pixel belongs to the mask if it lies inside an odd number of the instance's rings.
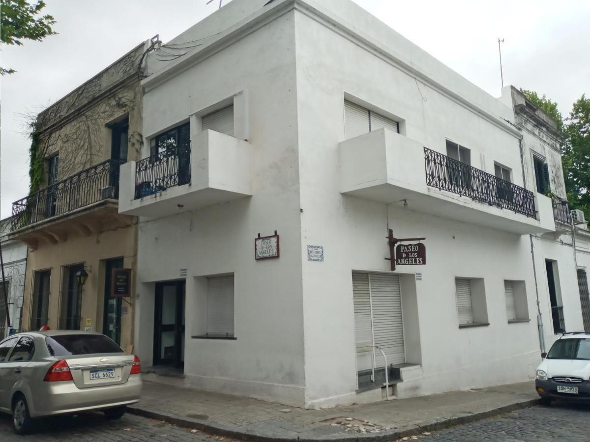
[[33,434],[17,436],[12,431],[10,417],[0,414],[0,441],[2,442],[64,442],[64,441],[234,441],[229,437],[214,436],[190,428],[180,428],[162,421],[125,414],[111,421],[102,413],[87,413],[78,417],[59,417],[38,421]]

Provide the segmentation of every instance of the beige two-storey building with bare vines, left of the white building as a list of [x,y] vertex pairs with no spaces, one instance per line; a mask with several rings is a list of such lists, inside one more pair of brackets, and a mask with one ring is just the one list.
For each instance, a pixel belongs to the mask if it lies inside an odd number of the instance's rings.
[[[119,166],[142,145],[140,64],[150,42],[42,111],[31,193],[13,203],[10,238],[29,246],[23,329],[92,329],[133,344],[133,302],[113,269],[136,271],[136,217],[119,215]],[[81,284],[80,276],[87,274]]]

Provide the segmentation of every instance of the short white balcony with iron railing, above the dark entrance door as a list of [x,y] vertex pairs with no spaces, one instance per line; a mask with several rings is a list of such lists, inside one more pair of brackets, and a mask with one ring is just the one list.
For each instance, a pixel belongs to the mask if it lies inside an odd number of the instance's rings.
[[212,130],[121,166],[119,213],[161,217],[251,196],[251,147]]

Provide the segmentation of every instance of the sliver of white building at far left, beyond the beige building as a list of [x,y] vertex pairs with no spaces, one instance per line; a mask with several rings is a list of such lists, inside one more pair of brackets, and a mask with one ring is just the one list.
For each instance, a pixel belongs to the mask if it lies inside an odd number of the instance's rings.
[[[10,218],[0,221],[0,242],[2,243],[2,262],[4,279],[0,275],[0,339],[5,338],[11,329],[21,329],[22,301],[24,298],[25,272],[27,271],[27,245],[8,239]],[[4,288],[8,296],[8,309],[4,306]],[[10,319],[10,326],[8,326]]]

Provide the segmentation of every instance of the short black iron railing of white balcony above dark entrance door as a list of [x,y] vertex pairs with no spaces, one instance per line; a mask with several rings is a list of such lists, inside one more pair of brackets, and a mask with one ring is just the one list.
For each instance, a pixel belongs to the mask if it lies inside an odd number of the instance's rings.
[[137,161],[135,199],[191,181],[191,146],[172,147]]

